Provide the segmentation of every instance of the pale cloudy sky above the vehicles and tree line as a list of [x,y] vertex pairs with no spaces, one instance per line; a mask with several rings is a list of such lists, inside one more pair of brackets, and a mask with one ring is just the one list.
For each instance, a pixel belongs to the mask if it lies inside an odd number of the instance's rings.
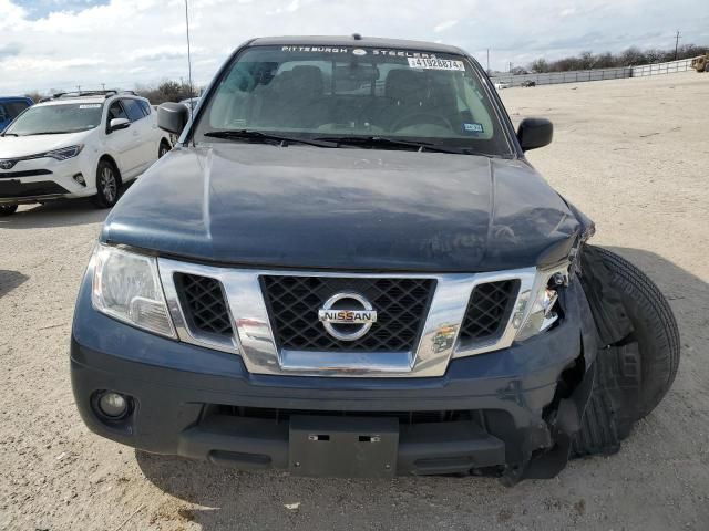
[[[0,0],[0,95],[134,88],[187,79],[184,0]],[[544,56],[709,45],[707,0],[189,0],[193,76],[205,85],[253,37],[438,41],[507,70]]]

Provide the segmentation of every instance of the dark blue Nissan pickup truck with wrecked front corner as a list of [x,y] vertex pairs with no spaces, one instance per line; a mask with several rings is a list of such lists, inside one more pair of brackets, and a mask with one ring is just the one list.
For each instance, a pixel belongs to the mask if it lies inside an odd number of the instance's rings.
[[515,134],[462,50],[256,39],[193,121],[171,103],[158,123],[179,144],[107,217],[76,301],[93,431],[244,469],[512,485],[617,450],[671,385],[667,301],[589,244],[525,156],[552,124]]

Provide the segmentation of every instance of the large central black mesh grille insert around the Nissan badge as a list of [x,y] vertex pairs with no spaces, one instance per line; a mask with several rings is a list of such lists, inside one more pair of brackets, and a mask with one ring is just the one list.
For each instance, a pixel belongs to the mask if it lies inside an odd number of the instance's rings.
[[[261,277],[278,345],[298,351],[402,352],[415,346],[433,296],[433,279]],[[340,341],[318,321],[318,310],[336,293],[364,295],[378,313],[359,340]]]

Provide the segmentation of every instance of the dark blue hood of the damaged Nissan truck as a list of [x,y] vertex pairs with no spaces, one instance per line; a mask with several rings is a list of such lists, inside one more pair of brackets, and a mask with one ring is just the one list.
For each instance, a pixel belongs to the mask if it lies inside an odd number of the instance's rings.
[[153,165],[102,241],[245,267],[475,272],[554,260],[579,230],[523,160],[215,143]]

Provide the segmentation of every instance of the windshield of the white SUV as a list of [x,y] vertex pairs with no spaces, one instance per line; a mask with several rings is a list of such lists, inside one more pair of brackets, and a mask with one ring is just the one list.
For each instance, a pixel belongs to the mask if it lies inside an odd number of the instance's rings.
[[28,108],[6,135],[51,135],[93,129],[101,124],[102,103],[62,103]]

